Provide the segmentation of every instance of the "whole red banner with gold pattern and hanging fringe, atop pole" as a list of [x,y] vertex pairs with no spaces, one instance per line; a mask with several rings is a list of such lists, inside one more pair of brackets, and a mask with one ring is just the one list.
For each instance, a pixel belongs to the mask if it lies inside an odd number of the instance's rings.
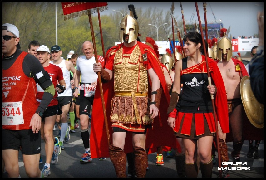
[[91,14],[99,11],[108,10],[107,2],[62,2],[63,13],[65,15],[65,20],[88,15],[88,10]]

